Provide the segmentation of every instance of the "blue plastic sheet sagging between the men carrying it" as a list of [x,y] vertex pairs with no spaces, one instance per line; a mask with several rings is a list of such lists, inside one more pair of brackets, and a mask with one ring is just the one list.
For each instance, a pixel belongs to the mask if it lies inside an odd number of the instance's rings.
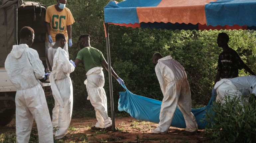
[[[126,91],[119,92],[118,110],[129,113],[133,118],[141,121],[149,121],[159,123],[159,114],[161,109],[161,101],[133,94],[125,85],[122,85]],[[204,129],[207,122],[204,120],[206,112],[211,112],[211,105],[214,101],[214,96],[211,97],[207,106],[191,109],[198,124],[198,129]],[[171,126],[186,128],[186,123],[182,112],[177,107]]]

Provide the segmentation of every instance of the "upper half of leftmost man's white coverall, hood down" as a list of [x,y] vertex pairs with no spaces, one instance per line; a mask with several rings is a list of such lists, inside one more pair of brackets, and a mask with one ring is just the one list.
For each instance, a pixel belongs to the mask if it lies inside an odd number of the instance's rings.
[[45,77],[45,68],[37,51],[26,44],[14,45],[4,65],[16,89],[33,88]]

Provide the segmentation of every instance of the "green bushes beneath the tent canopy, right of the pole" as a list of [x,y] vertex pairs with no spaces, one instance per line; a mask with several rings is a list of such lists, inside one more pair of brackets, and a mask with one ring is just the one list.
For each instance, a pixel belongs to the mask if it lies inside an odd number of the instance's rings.
[[[164,56],[171,55],[184,66],[191,87],[192,106],[207,105],[217,72],[218,55],[222,52],[216,43],[219,32],[228,33],[229,46],[237,50],[244,62],[255,71],[256,45],[252,40],[255,39],[255,32],[132,29],[115,25],[109,29],[112,66],[127,88],[138,95],[162,100],[155,66],[151,61],[153,53],[160,52]],[[240,70],[239,76],[244,75],[248,73]],[[108,88],[105,89],[108,93]],[[113,90],[123,89],[113,81]],[[118,93],[114,94],[114,99],[118,97]]]

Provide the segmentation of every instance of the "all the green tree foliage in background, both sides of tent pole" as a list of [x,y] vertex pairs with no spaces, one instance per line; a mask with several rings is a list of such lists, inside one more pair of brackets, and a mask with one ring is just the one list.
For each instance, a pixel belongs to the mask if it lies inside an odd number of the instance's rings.
[[[47,6],[56,3],[53,0],[39,0],[39,2]],[[69,48],[70,59],[75,59],[79,51],[77,40],[83,33],[91,35],[91,46],[99,49],[106,58],[103,8],[108,2],[109,0],[67,0],[66,7],[70,9],[75,19],[72,25],[73,46]],[[186,70],[193,105],[206,105],[217,72],[218,55],[222,51],[216,44],[217,35],[222,31],[133,29],[109,25],[111,65],[133,93],[162,100],[163,95],[151,61],[152,55],[155,52],[160,52],[164,56],[172,55]],[[244,62],[256,72],[256,33],[246,30],[224,30],[224,32],[230,36],[229,46],[236,50]],[[104,74],[104,89],[109,103],[106,70]],[[244,75],[248,73],[244,70],[239,71],[239,76]],[[87,92],[83,84],[86,79],[83,65],[77,66],[70,76],[74,81],[74,107],[90,106],[86,101]],[[118,92],[124,89],[113,77],[112,79],[114,107],[117,109]]]

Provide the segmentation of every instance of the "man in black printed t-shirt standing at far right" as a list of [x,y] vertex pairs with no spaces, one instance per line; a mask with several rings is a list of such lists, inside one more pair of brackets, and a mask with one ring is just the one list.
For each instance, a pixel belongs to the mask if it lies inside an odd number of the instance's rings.
[[[255,75],[254,72],[243,62],[240,56],[235,50],[228,47],[229,36],[221,32],[218,34],[217,44],[218,47],[223,49],[218,59],[218,68],[214,85],[220,78],[235,78],[238,77],[238,69],[245,69],[251,75]],[[216,90],[212,90],[212,94],[216,94]]]

